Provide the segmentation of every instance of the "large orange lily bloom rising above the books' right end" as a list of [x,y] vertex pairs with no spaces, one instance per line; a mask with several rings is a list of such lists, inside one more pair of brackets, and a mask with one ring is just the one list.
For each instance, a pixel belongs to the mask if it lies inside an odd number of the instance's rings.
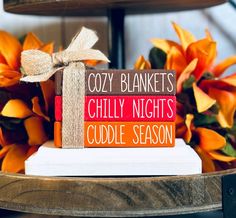
[[180,44],[165,39],[151,39],[151,42],[167,54],[165,68],[175,69],[177,79],[188,64],[197,59],[198,63],[191,73],[198,81],[204,72],[212,69],[216,58],[216,42],[209,37],[209,34],[204,39],[196,40],[190,32],[176,23],[173,23],[173,27],[180,39]]

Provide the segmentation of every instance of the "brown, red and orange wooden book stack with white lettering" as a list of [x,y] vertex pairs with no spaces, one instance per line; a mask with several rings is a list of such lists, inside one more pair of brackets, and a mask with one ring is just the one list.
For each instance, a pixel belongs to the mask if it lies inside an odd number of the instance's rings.
[[[62,146],[62,79],[58,72],[56,147]],[[87,70],[84,147],[174,146],[175,86],[174,71]]]

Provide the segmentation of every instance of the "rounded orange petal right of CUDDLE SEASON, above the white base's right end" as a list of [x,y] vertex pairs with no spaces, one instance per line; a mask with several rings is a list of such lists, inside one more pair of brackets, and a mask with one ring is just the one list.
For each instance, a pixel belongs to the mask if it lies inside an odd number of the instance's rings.
[[214,130],[199,127],[196,132],[199,136],[199,146],[205,151],[218,150],[226,144],[225,138]]

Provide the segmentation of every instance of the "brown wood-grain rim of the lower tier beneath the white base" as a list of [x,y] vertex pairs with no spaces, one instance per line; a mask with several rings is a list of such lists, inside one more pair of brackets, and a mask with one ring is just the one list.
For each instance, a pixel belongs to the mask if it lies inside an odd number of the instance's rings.
[[157,216],[219,210],[221,177],[36,177],[0,173],[0,208],[68,216]]

